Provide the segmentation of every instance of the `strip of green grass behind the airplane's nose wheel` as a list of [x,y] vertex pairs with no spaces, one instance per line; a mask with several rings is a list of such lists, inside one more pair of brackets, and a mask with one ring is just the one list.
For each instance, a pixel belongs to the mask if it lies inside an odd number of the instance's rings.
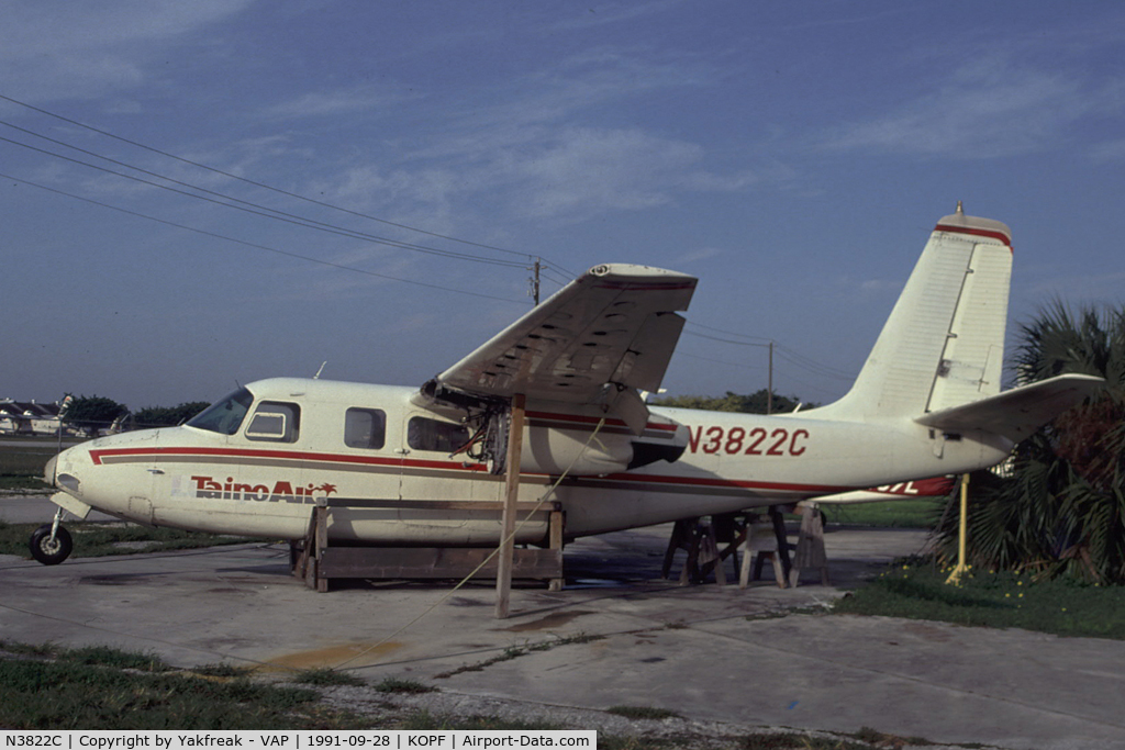
[[[29,558],[27,540],[42,524],[8,524],[0,522],[0,554]],[[220,544],[242,544],[249,537],[205,534],[178,528],[153,528],[128,523],[66,523],[74,539],[75,558],[100,558],[108,554],[137,554],[194,550]]]

